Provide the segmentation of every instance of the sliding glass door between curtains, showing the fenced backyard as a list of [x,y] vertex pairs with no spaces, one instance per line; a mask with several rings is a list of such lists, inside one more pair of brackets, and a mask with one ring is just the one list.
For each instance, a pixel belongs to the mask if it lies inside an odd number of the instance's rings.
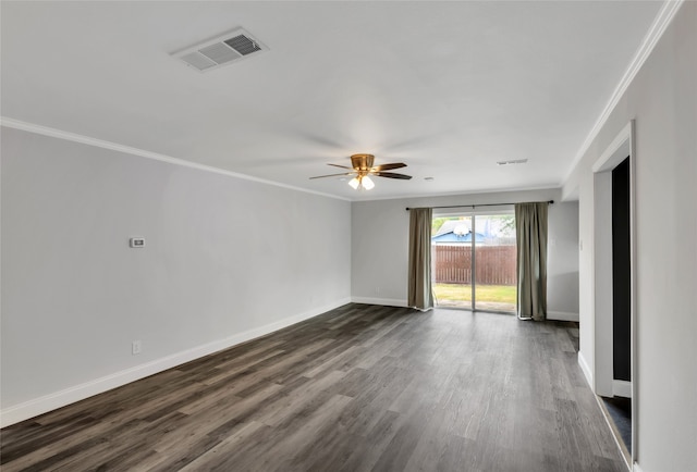
[[431,282],[437,307],[515,313],[512,210],[435,215],[431,234]]

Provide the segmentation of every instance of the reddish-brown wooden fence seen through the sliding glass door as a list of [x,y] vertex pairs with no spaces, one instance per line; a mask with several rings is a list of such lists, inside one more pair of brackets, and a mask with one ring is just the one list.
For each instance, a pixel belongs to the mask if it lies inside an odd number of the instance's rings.
[[[438,284],[472,284],[472,247],[431,246]],[[515,246],[476,248],[476,282],[485,285],[515,285]]]

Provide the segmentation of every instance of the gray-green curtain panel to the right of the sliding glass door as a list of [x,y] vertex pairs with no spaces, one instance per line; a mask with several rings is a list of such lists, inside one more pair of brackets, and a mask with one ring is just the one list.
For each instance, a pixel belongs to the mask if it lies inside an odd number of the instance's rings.
[[547,319],[548,202],[515,204],[518,299],[522,320]]

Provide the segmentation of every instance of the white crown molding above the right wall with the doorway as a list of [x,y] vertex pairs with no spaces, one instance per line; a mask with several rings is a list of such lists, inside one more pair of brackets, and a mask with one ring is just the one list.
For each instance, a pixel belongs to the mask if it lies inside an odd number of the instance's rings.
[[661,39],[661,36],[663,36],[663,33],[665,33],[665,29],[670,25],[673,17],[675,17],[677,10],[680,10],[681,5],[684,2],[685,0],[669,0],[663,3],[661,10],[656,15],[656,18],[653,18],[651,27],[644,37],[641,45],[634,53],[634,58],[632,58],[632,62],[629,62],[629,65],[624,72],[622,79],[612,92],[612,96],[606,104],[606,108],[602,110],[602,113],[600,113],[600,116],[598,116],[598,120],[596,120],[596,123],[588,133],[588,136],[586,136],[586,139],[576,152],[576,156],[568,166],[568,170],[566,171],[564,178],[560,183],[560,186],[563,186],[564,183],[568,181],[571,174],[574,172],[586,151],[588,151],[588,149],[590,148],[590,145],[598,136],[598,133],[600,133],[600,129],[602,129],[602,127],[606,125],[608,119],[610,117],[610,114],[617,105],[617,102],[620,101],[622,96],[624,96],[624,92],[629,87],[629,84],[632,84],[632,80],[634,80],[634,77],[639,72],[648,57],[651,54],[651,51],[653,51],[653,48],[658,44],[659,39]]

